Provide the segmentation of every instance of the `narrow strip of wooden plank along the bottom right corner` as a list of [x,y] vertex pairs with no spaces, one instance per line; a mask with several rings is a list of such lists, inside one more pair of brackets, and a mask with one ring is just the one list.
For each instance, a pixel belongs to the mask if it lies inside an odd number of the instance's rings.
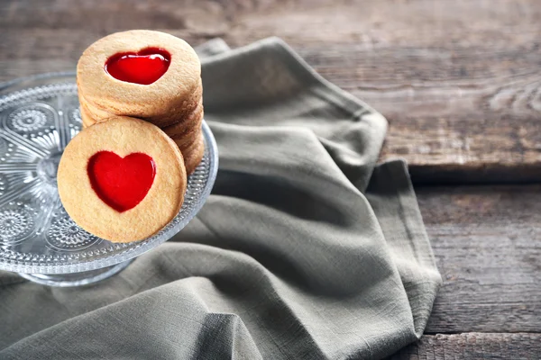
[[538,359],[540,354],[541,334],[465,333],[426,335],[389,359]]

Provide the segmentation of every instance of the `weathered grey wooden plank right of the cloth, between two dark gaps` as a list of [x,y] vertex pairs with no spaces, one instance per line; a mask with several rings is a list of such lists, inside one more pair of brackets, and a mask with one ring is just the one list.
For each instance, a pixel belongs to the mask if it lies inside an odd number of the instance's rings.
[[541,185],[416,191],[444,280],[426,332],[541,332]]

